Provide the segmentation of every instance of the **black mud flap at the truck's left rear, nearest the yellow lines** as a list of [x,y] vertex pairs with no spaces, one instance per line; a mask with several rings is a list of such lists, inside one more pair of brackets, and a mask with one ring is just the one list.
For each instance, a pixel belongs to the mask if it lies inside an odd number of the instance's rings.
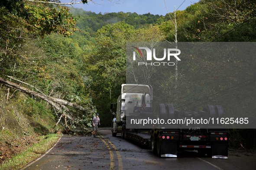
[[177,141],[161,141],[161,157],[177,157]]

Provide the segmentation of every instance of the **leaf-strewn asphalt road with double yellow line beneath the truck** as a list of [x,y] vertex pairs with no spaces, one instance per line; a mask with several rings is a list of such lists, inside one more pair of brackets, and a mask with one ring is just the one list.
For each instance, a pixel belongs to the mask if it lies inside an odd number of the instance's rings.
[[60,141],[38,161],[22,170],[256,170],[256,155],[233,151],[228,159],[199,157],[196,151],[185,151],[178,158],[159,158],[148,148],[111,135],[63,135]]

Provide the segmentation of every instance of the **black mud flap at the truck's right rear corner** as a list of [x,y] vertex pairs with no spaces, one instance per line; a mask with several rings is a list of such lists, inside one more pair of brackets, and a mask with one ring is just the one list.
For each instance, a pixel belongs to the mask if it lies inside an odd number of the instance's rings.
[[227,142],[212,142],[211,156],[212,158],[227,159],[228,146]]

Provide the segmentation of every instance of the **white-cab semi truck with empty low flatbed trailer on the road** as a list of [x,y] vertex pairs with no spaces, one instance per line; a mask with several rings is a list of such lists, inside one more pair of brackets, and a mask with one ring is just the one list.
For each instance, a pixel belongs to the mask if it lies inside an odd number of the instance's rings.
[[[117,103],[112,103],[110,112],[114,114],[112,135],[121,133],[123,139],[139,142],[152,149],[159,157],[177,157],[178,152],[197,150],[199,155],[212,158],[228,158],[229,133],[225,127],[211,120],[224,117],[220,105],[207,105],[202,110],[175,110],[173,104],[156,104],[153,113],[151,85],[123,84]],[[116,112],[113,106],[117,105]],[[137,126],[136,120],[179,120],[179,123],[160,125],[151,122],[147,126]],[[186,122],[190,119],[189,125]],[[207,123],[191,123],[191,120],[209,120]],[[133,125],[129,124],[133,120]]]

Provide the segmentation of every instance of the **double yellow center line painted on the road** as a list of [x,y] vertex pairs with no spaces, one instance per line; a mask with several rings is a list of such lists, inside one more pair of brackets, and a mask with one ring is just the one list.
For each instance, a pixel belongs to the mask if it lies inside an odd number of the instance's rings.
[[113,143],[111,143],[109,140],[103,139],[104,137],[102,135],[100,135],[100,136],[101,136],[101,138],[99,136],[98,137],[104,142],[104,144],[107,146],[107,148],[109,149],[109,152],[110,152],[110,170],[113,170],[114,166],[115,166],[114,154],[113,154],[113,151],[111,151],[110,145],[113,147],[113,149],[117,153],[119,170],[123,170],[122,158],[121,158],[119,151],[117,151],[117,148],[115,147],[115,145],[113,145]]

